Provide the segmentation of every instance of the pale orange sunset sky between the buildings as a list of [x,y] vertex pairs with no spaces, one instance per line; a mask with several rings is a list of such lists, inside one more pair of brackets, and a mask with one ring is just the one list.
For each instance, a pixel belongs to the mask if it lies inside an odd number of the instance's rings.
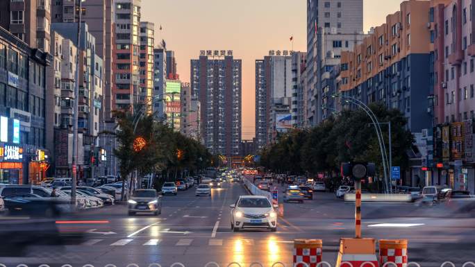
[[[366,32],[399,10],[401,0],[363,3]],[[254,137],[255,60],[290,50],[290,36],[294,51],[306,51],[306,0],[142,0],[141,20],[155,23],[156,44],[165,39],[175,51],[183,82],[200,50],[233,50],[242,60],[242,139]]]

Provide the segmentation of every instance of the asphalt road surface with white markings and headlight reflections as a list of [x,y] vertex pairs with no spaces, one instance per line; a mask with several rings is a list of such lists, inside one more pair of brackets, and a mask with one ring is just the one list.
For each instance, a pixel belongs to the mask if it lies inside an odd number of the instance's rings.
[[[127,216],[126,205],[88,210],[56,223],[61,242],[26,246],[21,255],[15,253],[16,248],[4,250],[0,264],[125,267],[180,262],[198,267],[210,261],[219,266],[232,262],[272,266],[280,261],[292,266],[293,240],[297,238],[322,239],[323,259],[334,264],[340,237],[354,235],[353,204],[324,192],[302,204],[285,203],[277,232],[232,232],[228,206],[247,194],[242,184],[225,183],[221,189],[213,189],[210,197],[197,197],[194,189],[164,196],[159,216]],[[440,266],[444,261],[462,266],[475,261],[475,218],[442,205],[363,203],[363,236],[408,239],[409,261],[421,266]]]

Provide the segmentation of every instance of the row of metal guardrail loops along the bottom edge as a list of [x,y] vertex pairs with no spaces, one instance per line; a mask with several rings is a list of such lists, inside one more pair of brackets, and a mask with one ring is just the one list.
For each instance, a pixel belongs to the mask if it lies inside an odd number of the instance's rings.
[[[298,266],[303,266],[303,267],[310,267],[305,262],[297,262],[296,264],[293,264],[292,267],[295,267],[297,265]],[[55,264],[54,266],[60,266],[60,265]],[[349,262],[349,261],[342,261],[340,266],[341,267],[342,266],[353,267],[353,264],[351,264],[351,262]],[[392,266],[397,267],[397,264],[392,262],[392,261],[388,261],[385,264],[383,264],[381,267],[392,267]],[[424,265],[418,264],[415,261],[408,262],[408,264],[406,266],[407,267],[411,267],[411,266],[424,267]],[[0,264],[0,267],[7,267],[7,266],[5,264]],[[15,267],[51,267],[51,266],[49,266],[48,264],[40,264],[40,265],[35,264],[35,265],[31,265],[31,266],[28,266],[26,264],[17,264]],[[81,265],[81,264],[76,264],[76,265],[63,264],[60,267],[141,267],[141,266],[139,264],[127,264],[126,266],[122,266],[122,265],[117,266],[115,264],[106,264],[104,266],[102,266],[102,265],[94,266],[92,264],[84,264],[84,265]],[[165,267],[165,266],[162,266],[158,263],[152,263],[152,264],[149,264],[149,265],[143,265],[142,267]],[[174,262],[169,267],[187,267],[187,266],[185,266],[185,264],[182,264],[181,262]],[[194,266],[194,267],[196,267],[196,266]],[[248,267],[248,266],[247,265],[241,265],[240,263],[235,262],[235,261],[231,262],[230,264],[221,266],[216,261],[210,261],[207,264],[205,264],[203,267]],[[262,263],[260,263],[258,261],[253,261],[251,264],[249,264],[249,267],[265,267],[265,265],[263,265]],[[281,261],[277,261],[269,267],[287,267],[287,266],[285,264],[283,264]],[[288,266],[288,267],[291,267],[291,266]],[[333,267],[333,265],[330,264],[328,261],[320,261],[317,264],[317,267]],[[363,262],[363,264],[361,264],[360,267],[376,267],[376,266],[374,266],[374,264],[372,262],[366,261],[366,262]],[[444,261],[442,264],[440,264],[440,267],[458,267],[458,266],[456,264],[454,264],[453,262],[451,262],[451,261]],[[466,261],[460,267],[475,267],[475,262],[474,261]]]

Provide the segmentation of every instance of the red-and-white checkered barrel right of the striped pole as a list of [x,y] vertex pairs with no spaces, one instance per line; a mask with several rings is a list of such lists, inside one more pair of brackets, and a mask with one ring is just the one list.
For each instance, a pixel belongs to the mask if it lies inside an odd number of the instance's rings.
[[408,266],[407,239],[379,240],[379,264],[383,266],[387,262],[394,263],[397,267]]

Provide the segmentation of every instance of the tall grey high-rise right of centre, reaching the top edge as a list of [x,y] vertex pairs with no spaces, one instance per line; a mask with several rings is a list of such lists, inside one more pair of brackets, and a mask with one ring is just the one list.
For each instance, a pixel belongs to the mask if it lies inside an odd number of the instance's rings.
[[363,0],[307,0],[308,121],[322,121],[322,80],[363,39]]

